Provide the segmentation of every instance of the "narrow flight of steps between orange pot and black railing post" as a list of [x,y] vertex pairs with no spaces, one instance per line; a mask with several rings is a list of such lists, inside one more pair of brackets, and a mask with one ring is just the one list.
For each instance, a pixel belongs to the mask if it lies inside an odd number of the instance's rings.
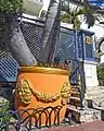
[[79,85],[72,85],[72,96],[67,103],[67,110],[65,118],[69,122],[80,122],[79,120],[79,109],[80,109],[80,88]]

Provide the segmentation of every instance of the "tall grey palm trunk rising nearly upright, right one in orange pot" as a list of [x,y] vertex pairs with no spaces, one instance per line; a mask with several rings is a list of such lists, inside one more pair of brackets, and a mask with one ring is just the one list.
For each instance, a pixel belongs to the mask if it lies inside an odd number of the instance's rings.
[[[43,29],[41,62],[52,62],[60,34],[61,0],[51,0]],[[55,32],[56,31],[56,32]]]

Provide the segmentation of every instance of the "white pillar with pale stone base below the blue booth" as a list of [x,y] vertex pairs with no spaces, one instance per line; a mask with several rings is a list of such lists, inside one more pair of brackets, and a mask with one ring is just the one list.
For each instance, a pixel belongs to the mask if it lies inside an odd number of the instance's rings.
[[96,74],[96,62],[84,62],[84,75],[86,75],[86,94],[83,105],[88,106],[88,103],[92,100],[94,107],[104,108],[104,86],[99,86]]

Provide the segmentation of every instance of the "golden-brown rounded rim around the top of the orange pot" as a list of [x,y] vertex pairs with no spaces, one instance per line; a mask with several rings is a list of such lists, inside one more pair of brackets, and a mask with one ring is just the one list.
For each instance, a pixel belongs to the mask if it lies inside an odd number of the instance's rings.
[[46,73],[46,74],[60,74],[68,75],[69,71],[60,68],[46,68],[46,67],[21,67],[20,73]]

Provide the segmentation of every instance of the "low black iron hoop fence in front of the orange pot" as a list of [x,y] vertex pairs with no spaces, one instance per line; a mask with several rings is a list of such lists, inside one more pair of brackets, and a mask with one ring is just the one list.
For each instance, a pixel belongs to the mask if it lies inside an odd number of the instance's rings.
[[[16,111],[8,110],[0,115],[0,131],[34,131],[36,129],[60,126],[61,109],[62,106]],[[42,119],[44,119],[43,123]]]

